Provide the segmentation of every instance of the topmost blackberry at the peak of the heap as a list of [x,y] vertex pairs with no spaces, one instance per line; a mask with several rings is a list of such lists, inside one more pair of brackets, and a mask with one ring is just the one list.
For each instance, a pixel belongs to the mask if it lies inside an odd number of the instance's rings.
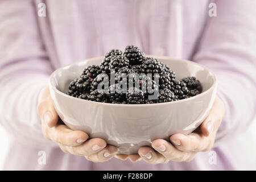
[[131,65],[141,64],[144,58],[144,52],[137,46],[126,46],[123,56],[130,61]]

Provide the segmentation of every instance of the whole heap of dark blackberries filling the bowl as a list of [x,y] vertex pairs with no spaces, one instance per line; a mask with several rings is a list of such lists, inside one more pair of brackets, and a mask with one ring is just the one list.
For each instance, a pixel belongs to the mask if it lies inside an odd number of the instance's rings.
[[[114,80],[110,79],[112,74]],[[108,78],[105,84],[102,84],[102,75]],[[112,104],[156,104],[182,100],[202,92],[201,83],[195,77],[181,80],[175,77],[168,65],[154,57],[146,57],[136,46],[127,46],[124,52],[112,49],[100,65],[85,68],[80,78],[69,84],[67,94]]]

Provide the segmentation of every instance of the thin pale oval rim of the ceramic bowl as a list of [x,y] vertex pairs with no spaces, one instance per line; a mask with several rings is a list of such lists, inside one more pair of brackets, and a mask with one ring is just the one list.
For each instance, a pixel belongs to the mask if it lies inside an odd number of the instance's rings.
[[83,100],[81,98],[76,98],[76,97],[72,97],[72,96],[69,96],[68,94],[65,94],[63,92],[61,92],[60,90],[58,90],[56,88],[56,86],[53,86],[51,84],[51,80],[53,78],[53,76],[55,76],[58,72],[60,72],[61,70],[67,68],[67,67],[71,67],[72,65],[75,65],[75,64],[79,64],[79,63],[83,63],[85,61],[88,61],[88,60],[92,60],[92,59],[104,59],[104,56],[98,56],[98,57],[90,57],[88,59],[84,59],[84,60],[80,60],[80,61],[76,61],[75,63],[72,63],[72,64],[68,64],[68,65],[65,65],[64,67],[60,67],[58,69],[56,69],[55,71],[53,71],[49,77],[49,80],[48,80],[48,85],[49,87],[51,87],[51,89],[57,93],[57,94],[60,94],[61,96],[64,96],[64,97],[67,97],[67,98],[72,98],[72,99],[75,99],[75,100],[79,100],[80,102],[88,102],[88,104],[97,104],[97,105],[109,105],[109,106],[121,106],[121,107],[141,107],[141,106],[146,106],[146,107],[150,107],[150,106],[160,106],[160,105],[168,105],[168,104],[176,104],[176,103],[181,103],[181,102],[186,102],[186,101],[191,101],[191,100],[196,100],[196,98],[199,98],[209,92],[211,92],[214,88],[217,87],[217,76],[214,74],[214,72],[212,72],[209,68],[205,67],[204,65],[201,65],[199,63],[195,63],[194,61],[189,61],[189,60],[185,60],[185,59],[176,59],[176,58],[172,58],[172,57],[168,57],[168,56],[155,56],[155,55],[146,55],[148,57],[154,57],[156,59],[172,59],[172,60],[175,60],[175,61],[184,61],[184,62],[187,62],[189,64],[194,64],[194,65],[197,65],[199,67],[202,67],[204,69],[206,69],[209,73],[212,74],[213,76],[213,84],[210,86],[209,89],[205,90],[204,92],[196,95],[196,96],[193,96],[193,97],[189,97],[189,98],[185,98],[183,100],[178,100],[178,101],[171,101],[171,102],[163,102],[163,103],[155,103],[155,104],[112,104],[112,103],[104,103],[104,102],[95,102],[95,101],[88,101],[88,100]]

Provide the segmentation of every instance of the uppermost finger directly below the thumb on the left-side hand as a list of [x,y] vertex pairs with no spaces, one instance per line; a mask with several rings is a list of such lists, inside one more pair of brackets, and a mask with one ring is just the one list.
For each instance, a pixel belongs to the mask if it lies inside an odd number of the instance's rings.
[[88,134],[83,131],[73,131],[66,125],[57,125],[51,128],[44,126],[43,130],[49,139],[63,146],[78,146],[89,138]]

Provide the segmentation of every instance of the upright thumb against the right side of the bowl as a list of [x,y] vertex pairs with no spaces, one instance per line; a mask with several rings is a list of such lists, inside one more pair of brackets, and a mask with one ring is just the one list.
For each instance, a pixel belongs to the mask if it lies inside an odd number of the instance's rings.
[[216,132],[220,127],[222,117],[225,114],[225,107],[220,98],[216,97],[212,109],[210,110],[207,118],[201,124],[201,132],[208,137],[210,134]]

